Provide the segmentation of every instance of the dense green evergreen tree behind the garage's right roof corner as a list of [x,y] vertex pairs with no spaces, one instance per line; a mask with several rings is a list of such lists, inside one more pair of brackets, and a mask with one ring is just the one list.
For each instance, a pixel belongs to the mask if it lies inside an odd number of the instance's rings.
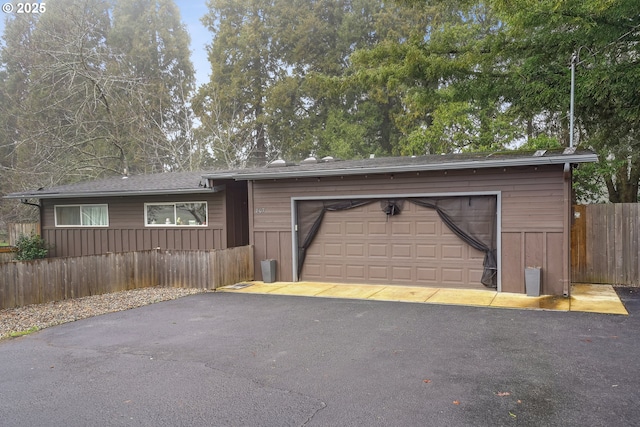
[[[637,202],[640,181],[640,16],[634,0],[496,0],[506,24],[500,53],[517,91],[514,110],[537,116],[543,131],[569,144],[571,73],[575,64],[574,143],[594,149],[579,196]],[[513,96],[515,95],[515,96]]]

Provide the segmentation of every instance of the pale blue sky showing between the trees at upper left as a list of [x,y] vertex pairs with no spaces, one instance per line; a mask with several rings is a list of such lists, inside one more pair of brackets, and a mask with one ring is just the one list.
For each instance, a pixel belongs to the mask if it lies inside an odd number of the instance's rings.
[[[182,22],[187,26],[191,36],[191,61],[196,70],[198,86],[209,80],[209,61],[205,45],[211,41],[211,33],[200,22],[200,18],[207,12],[206,0],[174,0],[180,8]],[[15,0],[0,0],[0,3],[18,3]],[[55,7],[56,0],[46,1],[47,8]],[[46,12],[45,12],[46,13]],[[4,20],[7,14],[0,12],[0,35],[4,34]]]

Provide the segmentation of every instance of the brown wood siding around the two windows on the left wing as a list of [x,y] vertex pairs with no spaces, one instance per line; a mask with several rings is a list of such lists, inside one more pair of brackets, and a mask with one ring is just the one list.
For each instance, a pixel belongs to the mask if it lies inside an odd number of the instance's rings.
[[[206,227],[145,227],[144,204],[158,202],[206,201],[209,223]],[[106,204],[108,227],[56,227],[56,205]],[[82,256],[107,252],[149,249],[206,250],[225,249],[224,192],[193,195],[110,197],[43,200],[42,238],[53,246],[50,256]]]

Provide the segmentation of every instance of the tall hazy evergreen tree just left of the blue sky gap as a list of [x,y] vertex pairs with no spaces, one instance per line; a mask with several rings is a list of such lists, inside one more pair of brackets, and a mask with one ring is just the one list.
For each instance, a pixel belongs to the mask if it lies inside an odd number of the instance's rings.
[[[127,144],[140,172],[202,167],[194,147],[189,99],[194,71],[189,34],[172,0],[126,0],[113,8],[108,46],[117,56],[109,70],[136,85]],[[127,88],[128,89],[128,88]]]

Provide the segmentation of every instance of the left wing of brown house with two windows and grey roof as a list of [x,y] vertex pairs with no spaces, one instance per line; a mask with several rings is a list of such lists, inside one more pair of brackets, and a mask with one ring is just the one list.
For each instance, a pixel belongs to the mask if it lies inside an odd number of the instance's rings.
[[40,209],[50,256],[246,245],[247,186],[210,186],[202,172],[159,173],[12,193]]

